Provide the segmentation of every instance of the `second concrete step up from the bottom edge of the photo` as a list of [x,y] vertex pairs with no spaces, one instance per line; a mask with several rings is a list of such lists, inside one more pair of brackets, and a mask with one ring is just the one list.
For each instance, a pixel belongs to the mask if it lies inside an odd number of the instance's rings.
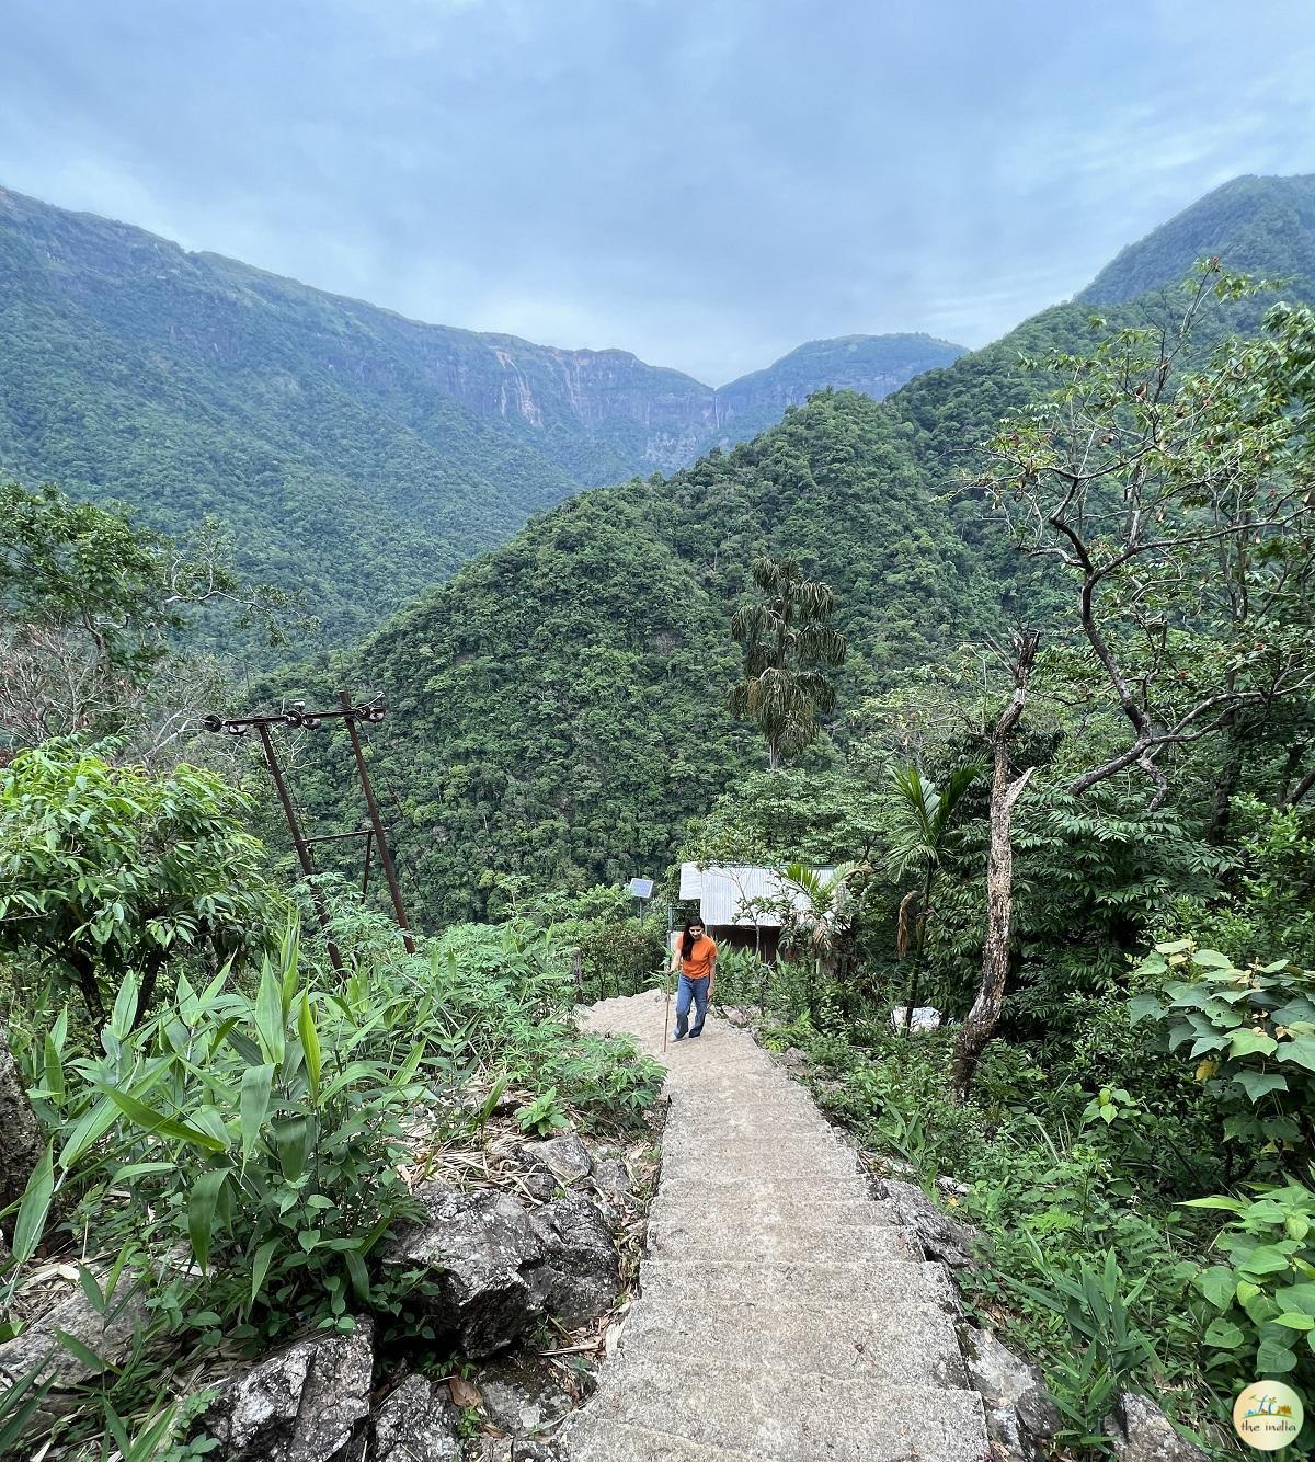
[[950,1317],[923,1303],[805,1306],[723,1300],[640,1300],[621,1352],[726,1355],[751,1368],[802,1367],[887,1386],[966,1387],[967,1370]]

